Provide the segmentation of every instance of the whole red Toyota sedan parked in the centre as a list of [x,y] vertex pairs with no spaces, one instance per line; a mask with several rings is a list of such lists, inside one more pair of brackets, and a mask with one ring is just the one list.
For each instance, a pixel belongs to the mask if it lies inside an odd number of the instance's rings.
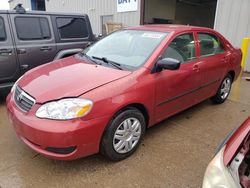
[[241,56],[208,28],[128,28],[27,72],[7,97],[8,114],[18,137],[45,156],[122,160],[148,127],[208,98],[223,103]]

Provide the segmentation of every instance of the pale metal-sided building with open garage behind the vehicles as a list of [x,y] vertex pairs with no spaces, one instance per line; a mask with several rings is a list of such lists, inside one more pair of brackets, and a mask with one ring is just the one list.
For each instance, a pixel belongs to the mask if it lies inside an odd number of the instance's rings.
[[[13,9],[22,3],[29,10],[86,13],[94,33],[106,22],[124,27],[151,23],[206,26],[240,47],[250,37],[250,0],[9,0]],[[250,71],[250,53],[247,69]]]

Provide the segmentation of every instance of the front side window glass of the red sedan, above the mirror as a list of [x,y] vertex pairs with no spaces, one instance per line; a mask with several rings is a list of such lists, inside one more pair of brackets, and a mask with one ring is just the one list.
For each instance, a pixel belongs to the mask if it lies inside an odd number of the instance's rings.
[[163,58],[177,59],[181,63],[196,58],[193,34],[183,34],[176,37],[163,54]]

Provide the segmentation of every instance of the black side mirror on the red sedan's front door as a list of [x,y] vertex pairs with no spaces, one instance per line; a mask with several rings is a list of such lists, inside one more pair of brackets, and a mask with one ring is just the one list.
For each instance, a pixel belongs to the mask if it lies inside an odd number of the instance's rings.
[[181,61],[173,58],[164,58],[157,61],[155,66],[155,72],[160,72],[164,69],[178,70],[180,68]]

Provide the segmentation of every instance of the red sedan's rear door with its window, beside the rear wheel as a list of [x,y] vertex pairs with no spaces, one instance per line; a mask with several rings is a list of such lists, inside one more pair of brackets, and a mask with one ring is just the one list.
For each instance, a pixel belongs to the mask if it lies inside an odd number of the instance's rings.
[[[213,33],[198,32],[200,71],[202,73],[200,100],[210,97],[226,74],[229,55],[224,44]],[[204,98],[205,97],[205,98]]]

